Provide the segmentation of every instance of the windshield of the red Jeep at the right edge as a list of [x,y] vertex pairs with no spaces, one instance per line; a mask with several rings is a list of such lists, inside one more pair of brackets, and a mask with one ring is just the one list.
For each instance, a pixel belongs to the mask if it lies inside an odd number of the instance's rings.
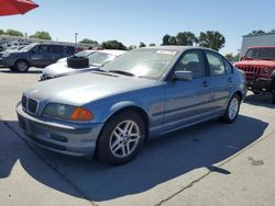
[[246,58],[275,60],[275,48],[250,48]]

